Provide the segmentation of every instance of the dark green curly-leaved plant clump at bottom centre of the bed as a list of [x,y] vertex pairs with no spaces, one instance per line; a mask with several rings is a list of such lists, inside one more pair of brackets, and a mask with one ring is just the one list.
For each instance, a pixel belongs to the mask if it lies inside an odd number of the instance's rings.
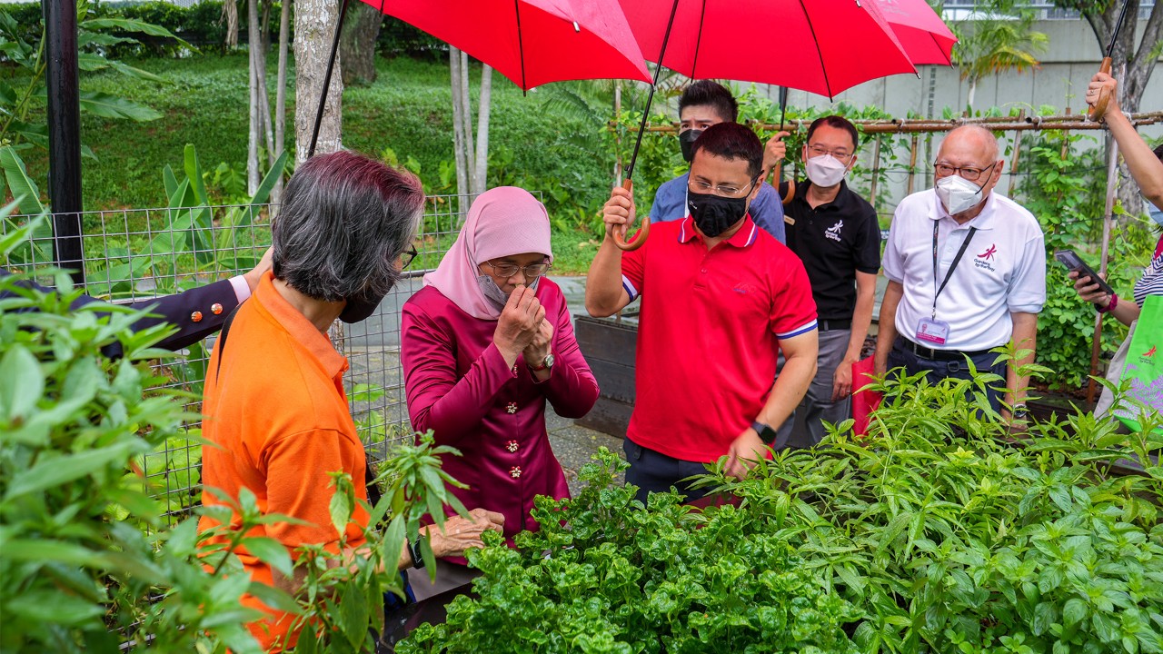
[[673,493],[613,481],[627,463],[605,448],[573,499],[536,500],[540,532],[509,549],[469,552],[485,576],[448,621],[421,625],[419,652],[856,652],[843,625],[862,616],[827,590],[783,534],[734,506],[697,512]]

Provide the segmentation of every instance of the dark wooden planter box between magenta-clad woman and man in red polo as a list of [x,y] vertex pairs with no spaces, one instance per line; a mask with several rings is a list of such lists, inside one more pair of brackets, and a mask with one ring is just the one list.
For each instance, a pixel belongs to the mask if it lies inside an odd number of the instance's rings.
[[616,318],[578,317],[573,329],[601,393],[593,410],[577,424],[612,436],[626,436],[634,411],[634,358],[637,314]]

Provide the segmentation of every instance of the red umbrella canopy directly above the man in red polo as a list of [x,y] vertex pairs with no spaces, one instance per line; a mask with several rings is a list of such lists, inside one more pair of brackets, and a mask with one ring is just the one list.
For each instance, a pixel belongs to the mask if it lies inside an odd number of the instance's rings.
[[[676,0],[620,0],[647,57],[662,49]],[[876,2],[677,0],[662,64],[691,78],[791,86],[829,98],[863,81],[915,73]]]

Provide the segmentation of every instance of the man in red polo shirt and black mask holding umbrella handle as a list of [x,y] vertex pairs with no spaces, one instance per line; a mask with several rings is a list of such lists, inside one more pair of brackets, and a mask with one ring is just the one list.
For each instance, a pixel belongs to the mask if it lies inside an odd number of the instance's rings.
[[[638,296],[636,393],[625,441],[627,483],[648,492],[728,455],[743,477],[766,454],[815,375],[815,303],[804,264],[751,221],[763,147],[749,128],[719,123],[694,142],[690,215],[652,226],[623,254],[614,229],[634,222],[633,196],[614,189],[604,209],[606,239],[586,280],[591,315],[616,313]],[[776,378],[783,348],[787,363]]]

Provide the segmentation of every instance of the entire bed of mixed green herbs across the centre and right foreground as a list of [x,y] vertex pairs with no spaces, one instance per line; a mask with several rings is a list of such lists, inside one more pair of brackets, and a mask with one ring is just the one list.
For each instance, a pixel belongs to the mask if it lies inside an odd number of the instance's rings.
[[[577,498],[538,500],[541,532],[470,554],[479,598],[400,651],[1163,651],[1163,438],[1072,415],[1005,442],[996,381],[886,384],[866,441],[842,425],[742,482],[716,465],[737,502],[702,512],[643,507],[602,453]],[[1144,474],[1112,475],[1128,455]]]

